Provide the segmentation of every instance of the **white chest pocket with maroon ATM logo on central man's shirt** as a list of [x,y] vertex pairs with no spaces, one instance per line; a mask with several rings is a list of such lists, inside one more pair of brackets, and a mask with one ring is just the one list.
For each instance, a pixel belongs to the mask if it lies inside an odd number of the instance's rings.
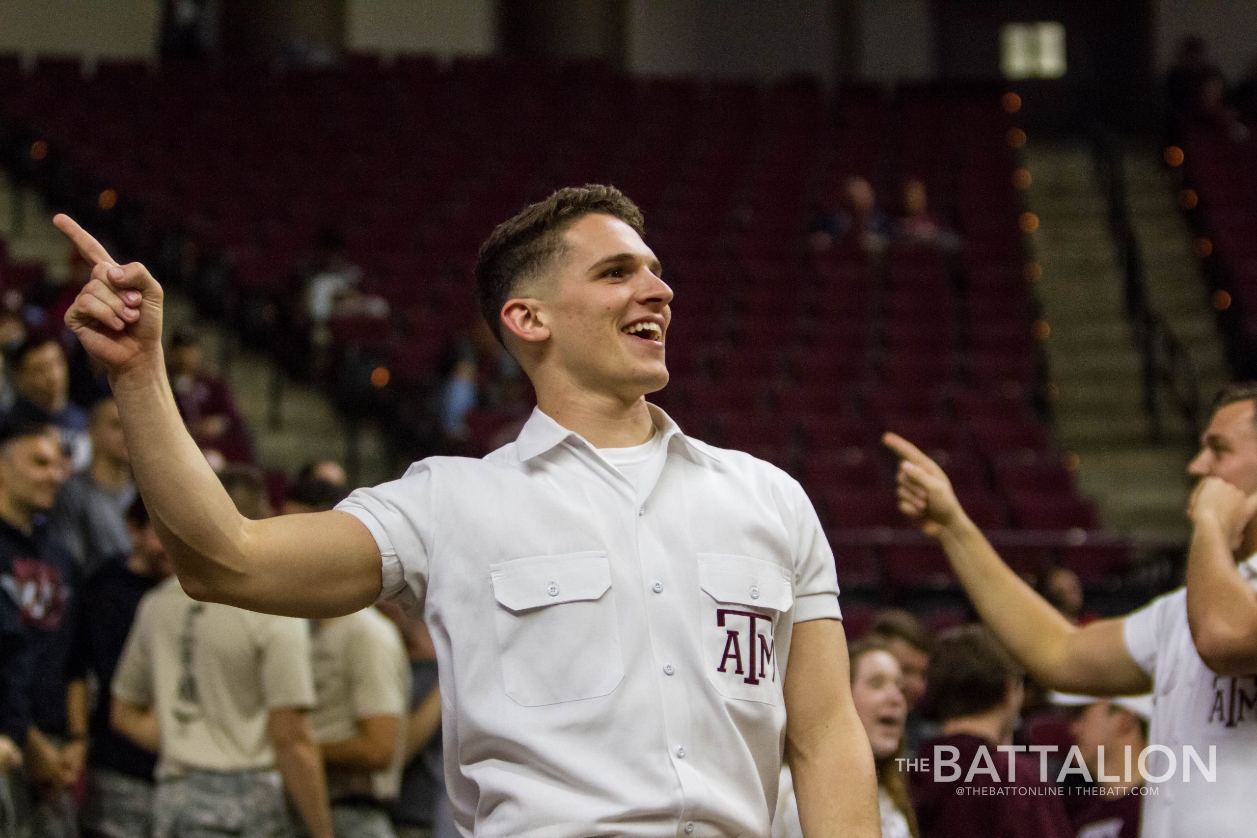
[[703,666],[720,695],[777,704],[776,631],[794,604],[789,570],[745,555],[699,553]]

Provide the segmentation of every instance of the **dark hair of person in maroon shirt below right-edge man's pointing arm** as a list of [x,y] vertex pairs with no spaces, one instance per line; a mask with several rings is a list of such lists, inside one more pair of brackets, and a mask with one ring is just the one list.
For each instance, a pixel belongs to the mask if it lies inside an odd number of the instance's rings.
[[925,682],[934,715],[941,720],[975,716],[1008,695],[1021,666],[984,626],[962,626],[934,646]]

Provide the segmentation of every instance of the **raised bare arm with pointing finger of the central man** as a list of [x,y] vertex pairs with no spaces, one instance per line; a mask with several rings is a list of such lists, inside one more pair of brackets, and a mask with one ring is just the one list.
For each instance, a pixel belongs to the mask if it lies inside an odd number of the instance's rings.
[[91,261],[65,324],[108,371],[136,485],[189,596],[292,617],[336,617],[380,593],[380,549],[352,515],[253,521],[236,511],[184,427],[161,346],[162,289],[118,265],[65,215],[53,222]]

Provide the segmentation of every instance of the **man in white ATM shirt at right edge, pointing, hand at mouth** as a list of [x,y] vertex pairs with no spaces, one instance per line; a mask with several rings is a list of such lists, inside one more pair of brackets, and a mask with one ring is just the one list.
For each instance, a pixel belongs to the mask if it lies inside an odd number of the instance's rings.
[[[939,539],[982,619],[1036,681],[1061,692],[1153,692],[1151,775],[1141,838],[1239,838],[1257,818],[1257,384],[1218,395],[1188,515],[1187,584],[1139,611],[1071,624],[1004,564],[957,501],[943,470],[906,440],[900,509]],[[1216,776],[1200,776],[1190,746]],[[1173,769],[1173,770],[1170,770]]]

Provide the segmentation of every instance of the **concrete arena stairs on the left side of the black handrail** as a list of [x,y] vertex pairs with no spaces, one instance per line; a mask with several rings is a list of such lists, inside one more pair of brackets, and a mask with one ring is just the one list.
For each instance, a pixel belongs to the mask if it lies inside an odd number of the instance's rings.
[[1149,441],[1141,359],[1091,155],[1082,146],[1032,144],[1024,163],[1028,209],[1038,216],[1031,248],[1042,265],[1037,293],[1050,328],[1057,437],[1079,456],[1080,489],[1106,526],[1183,538],[1190,450],[1185,433]]

